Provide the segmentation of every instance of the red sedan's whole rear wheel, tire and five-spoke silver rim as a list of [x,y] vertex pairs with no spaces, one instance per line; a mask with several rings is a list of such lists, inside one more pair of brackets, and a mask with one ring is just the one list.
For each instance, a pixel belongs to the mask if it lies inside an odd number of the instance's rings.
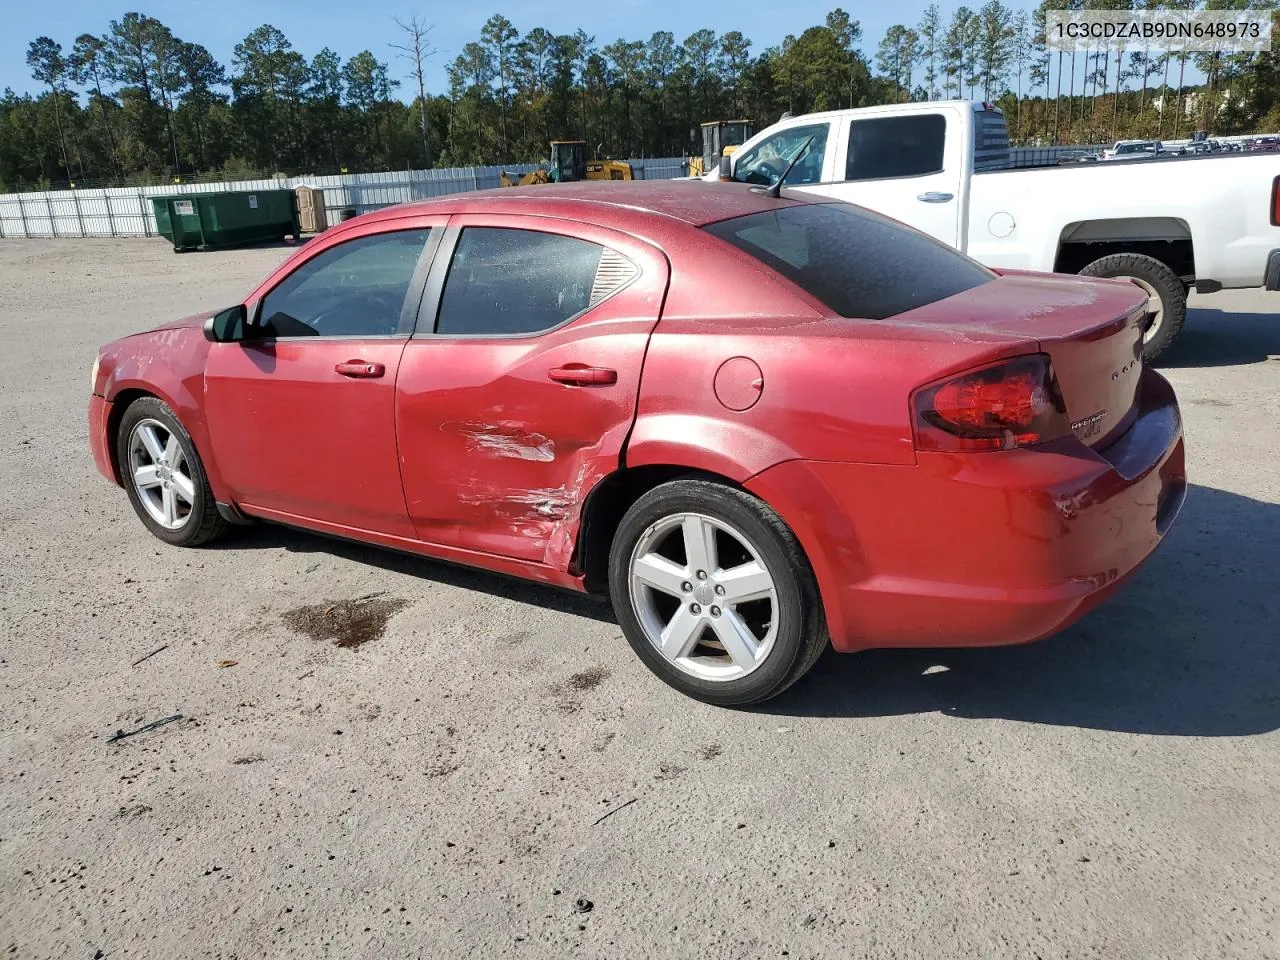
[[613,539],[609,594],[636,655],[707,703],[777,696],[827,646],[795,536],[768,506],[722,484],[675,480],[644,494]]

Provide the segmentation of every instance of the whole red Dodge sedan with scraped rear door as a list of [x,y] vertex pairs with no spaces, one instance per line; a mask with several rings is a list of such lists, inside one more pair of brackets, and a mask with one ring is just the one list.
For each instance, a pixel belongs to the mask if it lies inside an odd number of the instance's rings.
[[265,520],[608,593],[662,680],[745,704],[828,643],[1043,637],[1132,573],[1187,489],[1144,310],[806,196],[472,193],[108,344],[90,438],[166,543]]

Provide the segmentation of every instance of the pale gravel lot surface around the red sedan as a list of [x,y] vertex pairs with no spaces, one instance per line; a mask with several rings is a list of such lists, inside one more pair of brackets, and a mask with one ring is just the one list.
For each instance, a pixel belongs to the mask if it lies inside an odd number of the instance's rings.
[[[1110,605],[730,712],[573,595],[145,531],[96,348],[287,252],[0,243],[0,957],[1280,955],[1280,296],[1197,302],[1193,488]],[[300,632],[375,591],[383,636]]]

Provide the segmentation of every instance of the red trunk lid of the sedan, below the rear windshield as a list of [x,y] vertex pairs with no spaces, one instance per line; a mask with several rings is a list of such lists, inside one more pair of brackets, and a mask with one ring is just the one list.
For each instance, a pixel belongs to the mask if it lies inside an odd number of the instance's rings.
[[892,323],[1038,347],[1053,362],[1071,431],[1096,447],[1124,433],[1137,410],[1146,310],[1147,296],[1125,280],[1010,271]]

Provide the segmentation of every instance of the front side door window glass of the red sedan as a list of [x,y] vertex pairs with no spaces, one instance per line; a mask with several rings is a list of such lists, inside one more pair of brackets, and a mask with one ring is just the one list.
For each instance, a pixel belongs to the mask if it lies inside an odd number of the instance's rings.
[[389,337],[430,236],[396,230],[338,243],[262,298],[260,337]]

